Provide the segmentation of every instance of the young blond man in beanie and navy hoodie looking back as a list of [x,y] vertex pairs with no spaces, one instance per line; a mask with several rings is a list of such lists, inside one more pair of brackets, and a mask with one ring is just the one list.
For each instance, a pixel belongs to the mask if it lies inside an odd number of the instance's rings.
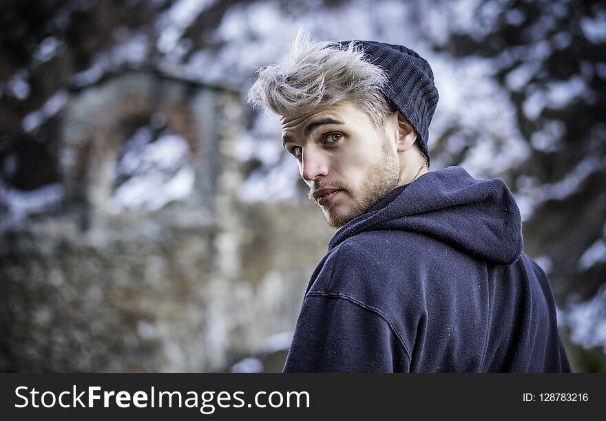
[[[399,45],[315,42],[249,92],[339,228],[311,276],[284,371],[570,371],[508,187],[428,171],[438,93]],[[304,229],[304,227],[302,227]]]

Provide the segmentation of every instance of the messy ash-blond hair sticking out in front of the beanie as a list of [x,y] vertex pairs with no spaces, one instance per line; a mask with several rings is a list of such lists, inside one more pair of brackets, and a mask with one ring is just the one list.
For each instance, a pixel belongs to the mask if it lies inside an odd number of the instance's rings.
[[313,41],[300,29],[291,51],[277,64],[261,67],[248,101],[282,117],[299,117],[315,109],[351,100],[377,129],[395,111],[383,94],[384,69],[368,63],[359,45]]

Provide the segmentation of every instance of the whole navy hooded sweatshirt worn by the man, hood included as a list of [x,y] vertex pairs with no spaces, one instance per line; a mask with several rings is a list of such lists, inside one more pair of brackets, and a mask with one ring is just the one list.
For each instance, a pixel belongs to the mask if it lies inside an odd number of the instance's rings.
[[502,180],[459,166],[337,231],[309,281],[289,371],[570,372],[545,272]]

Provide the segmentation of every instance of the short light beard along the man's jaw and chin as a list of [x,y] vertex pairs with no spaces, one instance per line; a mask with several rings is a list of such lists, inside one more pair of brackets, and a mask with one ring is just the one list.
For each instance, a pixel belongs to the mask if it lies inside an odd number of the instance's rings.
[[[326,217],[326,224],[330,228],[341,228],[351,220],[364,215],[364,213],[368,212],[370,208],[375,206],[375,204],[397,187],[399,182],[399,160],[397,153],[390,149],[387,142],[384,143],[383,151],[384,158],[370,167],[362,186],[359,188],[359,192],[355,195],[352,193],[351,186],[346,183],[331,184],[330,186],[324,186],[321,182],[317,184],[317,189],[338,188],[353,199],[353,205],[344,214],[339,215],[332,211],[335,207],[334,202],[322,208],[324,217]],[[316,202],[311,191],[309,192],[309,199],[312,202]]]

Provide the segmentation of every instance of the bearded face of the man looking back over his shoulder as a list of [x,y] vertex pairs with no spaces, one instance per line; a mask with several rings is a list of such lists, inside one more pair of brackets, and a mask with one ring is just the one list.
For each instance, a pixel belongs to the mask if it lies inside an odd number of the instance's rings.
[[309,199],[331,228],[366,213],[398,185],[395,147],[353,102],[281,121],[284,149],[297,158]]

